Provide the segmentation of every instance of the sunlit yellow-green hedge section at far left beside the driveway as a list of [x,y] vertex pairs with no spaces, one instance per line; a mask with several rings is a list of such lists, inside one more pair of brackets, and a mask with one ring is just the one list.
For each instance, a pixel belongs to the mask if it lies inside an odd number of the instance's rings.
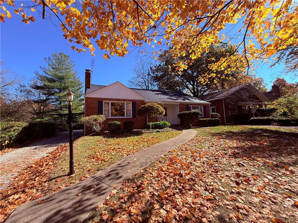
[[9,148],[21,130],[28,125],[26,122],[1,122],[0,123],[0,148]]

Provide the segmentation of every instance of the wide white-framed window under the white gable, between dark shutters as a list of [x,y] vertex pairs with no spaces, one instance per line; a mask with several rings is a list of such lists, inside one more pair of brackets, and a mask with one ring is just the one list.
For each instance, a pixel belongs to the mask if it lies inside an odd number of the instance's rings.
[[105,101],[103,107],[105,117],[131,117],[131,102]]

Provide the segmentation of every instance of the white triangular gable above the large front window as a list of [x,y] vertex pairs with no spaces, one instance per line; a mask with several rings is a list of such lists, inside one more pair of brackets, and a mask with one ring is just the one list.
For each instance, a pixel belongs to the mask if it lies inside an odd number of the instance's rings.
[[142,95],[139,95],[138,93],[129,89],[119,81],[96,91],[90,92],[89,94],[86,94],[85,97],[145,100]]

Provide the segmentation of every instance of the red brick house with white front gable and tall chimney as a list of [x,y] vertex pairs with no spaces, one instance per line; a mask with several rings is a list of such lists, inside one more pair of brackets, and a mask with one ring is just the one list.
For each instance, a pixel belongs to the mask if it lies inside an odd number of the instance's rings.
[[[91,84],[90,70],[85,72],[85,117],[90,115],[105,115],[103,130],[107,130],[108,122],[134,121],[136,129],[145,128],[146,117],[139,117],[136,112],[146,103],[161,105],[165,114],[154,121],[167,121],[171,125],[179,125],[177,114],[184,111],[198,110],[203,117],[210,118],[210,103],[193,96],[169,91],[144,90],[128,88],[120,82],[108,86]],[[84,127],[85,135],[91,133],[88,126]]]

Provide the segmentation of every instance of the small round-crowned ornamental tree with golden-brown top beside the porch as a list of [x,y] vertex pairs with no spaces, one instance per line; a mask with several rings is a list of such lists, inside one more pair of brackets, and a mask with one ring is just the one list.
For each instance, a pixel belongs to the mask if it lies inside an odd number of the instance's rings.
[[148,123],[149,123],[150,129],[151,129],[151,123],[153,121],[153,118],[155,118],[159,115],[163,115],[164,109],[162,108],[162,106],[160,106],[156,103],[148,103],[148,104],[142,105],[139,108],[137,114],[139,116],[147,116]]

